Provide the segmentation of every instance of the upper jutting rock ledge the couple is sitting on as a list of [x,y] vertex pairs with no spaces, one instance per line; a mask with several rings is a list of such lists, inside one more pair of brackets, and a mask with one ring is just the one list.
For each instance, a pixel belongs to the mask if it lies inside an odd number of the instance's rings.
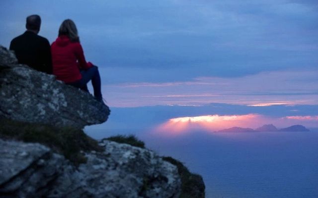
[[90,94],[17,64],[14,53],[0,46],[0,116],[83,128],[105,122],[109,113]]

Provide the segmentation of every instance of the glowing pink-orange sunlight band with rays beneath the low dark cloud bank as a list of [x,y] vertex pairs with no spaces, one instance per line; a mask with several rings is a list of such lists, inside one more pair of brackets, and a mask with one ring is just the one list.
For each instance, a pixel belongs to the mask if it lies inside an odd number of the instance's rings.
[[171,118],[157,126],[157,128],[154,130],[154,133],[158,135],[175,136],[196,131],[211,133],[232,127],[255,129],[265,124],[274,124],[280,128],[296,124],[305,124],[309,127],[318,127],[318,116],[286,116],[274,118],[260,114],[215,114],[194,117],[177,117]]

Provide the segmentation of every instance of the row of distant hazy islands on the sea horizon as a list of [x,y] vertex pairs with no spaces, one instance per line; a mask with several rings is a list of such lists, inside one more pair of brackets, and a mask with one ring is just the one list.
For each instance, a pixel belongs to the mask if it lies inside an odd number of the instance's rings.
[[228,129],[222,129],[219,131],[215,131],[215,133],[246,133],[246,132],[273,132],[273,131],[286,131],[286,132],[302,132],[302,131],[310,131],[303,125],[293,125],[283,129],[277,129],[272,124],[265,124],[261,127],[254,129],[251,128],[241,128],[241,127],[232,127]]

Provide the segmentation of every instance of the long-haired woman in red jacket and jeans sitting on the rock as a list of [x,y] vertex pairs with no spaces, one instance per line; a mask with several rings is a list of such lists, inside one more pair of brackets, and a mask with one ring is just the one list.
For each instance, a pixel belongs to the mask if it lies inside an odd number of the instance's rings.
[[78,30],[71,19],[61,24],[59,37],[53,42],[51,52],[53,74],[57,80],[87,92],[87,83],[91,80],[94,97],[102,101],[98,68],[91,62],[86,62],[79,43]]

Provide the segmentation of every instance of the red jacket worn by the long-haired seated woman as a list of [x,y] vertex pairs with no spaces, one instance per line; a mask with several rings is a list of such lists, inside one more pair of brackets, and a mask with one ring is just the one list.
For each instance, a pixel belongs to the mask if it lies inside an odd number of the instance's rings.
[[81,79],[79,69],[93,65],[86,62],[79,42],[71,42],[67,36],[60,36],[51,46],[53,74],[57,80],[72,83]]

